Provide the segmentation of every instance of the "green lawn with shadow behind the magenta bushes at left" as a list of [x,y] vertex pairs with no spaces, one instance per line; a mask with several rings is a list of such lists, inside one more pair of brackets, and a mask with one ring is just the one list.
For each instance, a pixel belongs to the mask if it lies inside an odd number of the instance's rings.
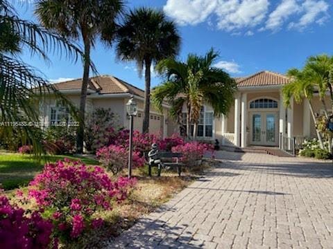
[[31,155],[0,152],[0,185],[2,185],[4,190],[24,187],[28,185],[36,174],[42,171],[46,162],[54,163],[63,158],[81,160],[86,165],[99,164],[97,160],[78,156],[46,156],[39,161]]

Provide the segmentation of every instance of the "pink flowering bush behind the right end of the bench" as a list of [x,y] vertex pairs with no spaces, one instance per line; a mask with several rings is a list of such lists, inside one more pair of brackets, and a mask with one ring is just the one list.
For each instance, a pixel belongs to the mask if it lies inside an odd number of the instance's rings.
[[207,151],[214,151],[214,147],[201,142],[187,142],[184,145],[173,147],[171,151],[182,153],[183,156],[180,158],[182,163],[187,166],[194,166],[198,160],[203,158]]

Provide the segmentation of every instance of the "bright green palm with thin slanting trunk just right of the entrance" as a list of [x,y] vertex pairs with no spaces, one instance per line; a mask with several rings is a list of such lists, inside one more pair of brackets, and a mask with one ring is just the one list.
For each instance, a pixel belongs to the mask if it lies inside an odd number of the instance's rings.
[[318,122],[311,102],[315,91],[315,84],[312,81],[312,77],[309,77],[309,72],[305,70],[300,71],[296,68],[291,68],[287,72],[287,75],[291,78],[291,83],[285,85],[282,89],[284,105],[290,107],[291,98],[294,98],[298,104],[302,103],[304,98],[309,101],[311,117],[312,120],[314,120],[319,145],[321,146],[321,149],[324,149],[323,138],[320,131],[317,129]]

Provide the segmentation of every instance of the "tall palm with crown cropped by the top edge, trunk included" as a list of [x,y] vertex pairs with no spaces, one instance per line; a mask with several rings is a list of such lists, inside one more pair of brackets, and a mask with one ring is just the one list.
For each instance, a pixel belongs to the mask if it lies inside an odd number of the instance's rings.
[[[91,66],[90,50],[97,37],[111,44],[123,0],[39,0],[35,13],[42,25],[71,39],[82,39],[84,46],[83,82],[80,95],[80,120],[85,120],[85,102]],[[76,147],[83,152],[84,124],[80,122]]]

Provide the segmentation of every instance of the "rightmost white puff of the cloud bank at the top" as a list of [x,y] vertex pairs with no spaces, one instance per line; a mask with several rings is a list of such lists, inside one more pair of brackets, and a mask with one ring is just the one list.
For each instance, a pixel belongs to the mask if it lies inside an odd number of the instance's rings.
[[323,24],[328,18],[329,5],[323,0],[305,0],[302,3],[302,17],[297,22],[291,22],[288,26],[289,29],[296,28],[298,30],[304,30],[309,24],[316,22],[317,24]]

